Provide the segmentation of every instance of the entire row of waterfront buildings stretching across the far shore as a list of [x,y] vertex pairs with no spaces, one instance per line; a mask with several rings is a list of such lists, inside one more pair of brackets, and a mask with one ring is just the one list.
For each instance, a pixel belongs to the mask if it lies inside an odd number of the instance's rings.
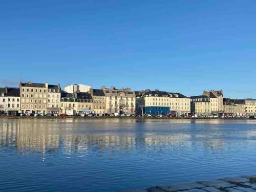
[[60,84],[20,82],[18,88],[0,88],[0,114],[144,114],[161,115],[256,115],[256,99],[224,98],[223,91],[203,91],[187,97],[181,93],[159,90],[133,91],[115,87],[93,89],[71,84],[61,90]]

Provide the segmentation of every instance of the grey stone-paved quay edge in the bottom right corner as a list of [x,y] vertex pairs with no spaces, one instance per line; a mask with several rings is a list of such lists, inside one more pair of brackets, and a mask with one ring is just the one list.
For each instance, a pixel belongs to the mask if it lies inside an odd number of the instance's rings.
[[154,186],[147,189],[127,189],[118,192],[253,192],[256,191],[256,176],[231,177],[174,185]]

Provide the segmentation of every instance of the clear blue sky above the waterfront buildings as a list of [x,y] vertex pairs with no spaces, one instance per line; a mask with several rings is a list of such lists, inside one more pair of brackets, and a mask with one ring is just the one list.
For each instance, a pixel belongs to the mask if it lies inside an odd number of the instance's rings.
[[256,98],[256,1],[1,1],[0,86]]

